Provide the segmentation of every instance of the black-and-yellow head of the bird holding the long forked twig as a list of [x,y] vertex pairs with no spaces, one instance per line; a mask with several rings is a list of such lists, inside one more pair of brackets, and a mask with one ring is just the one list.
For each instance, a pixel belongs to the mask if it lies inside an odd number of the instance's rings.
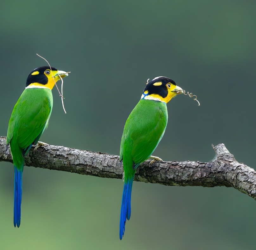
[[49,89],[52,89],[54,86],[54,81],[58,81],[61,78],[65,77],[68,75],[67,72],[58,70],[57,68],[54,67],[49,67],[49,66],[42,66],[39,68],[35,68],[33,71],[30,72],[27,82],[26,82],[26,87],[30,86],[41,86],[41,87],[47,87]]

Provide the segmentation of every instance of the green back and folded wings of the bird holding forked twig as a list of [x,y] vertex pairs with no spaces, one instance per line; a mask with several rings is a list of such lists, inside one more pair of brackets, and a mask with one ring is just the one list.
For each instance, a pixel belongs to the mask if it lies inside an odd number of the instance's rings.
[[25,89],[13,109],[6,143],[15,138],[18,146],[25,149],[36,139],[38,141],[47,126],[51,110],[50,89]]

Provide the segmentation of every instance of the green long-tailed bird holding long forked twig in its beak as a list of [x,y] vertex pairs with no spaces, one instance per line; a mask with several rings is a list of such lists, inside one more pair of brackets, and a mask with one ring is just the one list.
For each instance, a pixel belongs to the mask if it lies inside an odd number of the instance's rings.
[[21,222],[24,157],[31,146],[38,143],[40,136],[48,127],[53,107],[52,88],[55,82],[67,75],[67,72],[54,67],[35,68],[28,75],[26,87],[12,110],[6,144],[7,147],[10,144],[14,164],[14,227],[19,227]]

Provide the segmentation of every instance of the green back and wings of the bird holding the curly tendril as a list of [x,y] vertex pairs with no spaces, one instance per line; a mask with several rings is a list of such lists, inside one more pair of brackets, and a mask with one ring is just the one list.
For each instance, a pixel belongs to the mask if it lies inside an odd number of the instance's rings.
[[[165,103],[141,99],[131,111],[120,146],[125,176],[131,178],[138,166],[148,159],[162,139],[168,120]],[[126,177],[125,177],[126,178]]]

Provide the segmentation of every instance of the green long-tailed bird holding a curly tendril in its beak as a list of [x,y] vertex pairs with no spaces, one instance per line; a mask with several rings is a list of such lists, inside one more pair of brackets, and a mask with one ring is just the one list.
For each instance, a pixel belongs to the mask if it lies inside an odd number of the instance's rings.
[[125,122],[120,145],[120,167],[124,167],[124,189],[120,212],[119,238],[125,233],[125,222],[131,216],[132,182],[139,164],[149,158],[161,160],[151,154],[156,149],[166,129],[168,113],[166,104],[182,88],[174,80],[159,76],[147,82],[141,99]]

